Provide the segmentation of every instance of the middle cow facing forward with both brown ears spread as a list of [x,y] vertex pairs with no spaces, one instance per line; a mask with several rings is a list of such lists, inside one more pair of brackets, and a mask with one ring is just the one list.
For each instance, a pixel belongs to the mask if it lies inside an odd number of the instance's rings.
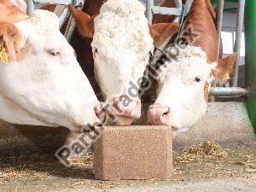
[[[87,2],[95,4],[90,0]],[[167,23],[148,27],[145,9],[137,0],[96,1],[96,4],[98,6],[90,15],[71,5],[69,10],[79,33],[92,39],[96,82],[114,117],[109,119],[108,115],[106,125],[131,125],[141,116],[141,101],[138,93],[131,96],[131,84],[140,87],[154,44],[163,43],[177,25]]]

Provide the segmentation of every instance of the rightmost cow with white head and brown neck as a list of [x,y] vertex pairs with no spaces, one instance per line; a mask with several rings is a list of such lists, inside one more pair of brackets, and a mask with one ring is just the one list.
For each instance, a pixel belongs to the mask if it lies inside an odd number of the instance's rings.
[[157,99],[148,109],[149,125],[169,125],[177,133],[204,116],[212,80],[228,79],[236,61],[236,54],[216,61],[218,35],[210,0],[195,0],[190,11],[184,34],[192,30],[197,38],[160,67]]

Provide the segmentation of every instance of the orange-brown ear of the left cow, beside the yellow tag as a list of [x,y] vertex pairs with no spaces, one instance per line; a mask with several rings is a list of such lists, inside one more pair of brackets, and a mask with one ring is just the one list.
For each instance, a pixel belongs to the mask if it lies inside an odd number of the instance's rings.
[[0,21],[0,52],[5,62],[15,61],[20,54],[22,36],[15,25]]

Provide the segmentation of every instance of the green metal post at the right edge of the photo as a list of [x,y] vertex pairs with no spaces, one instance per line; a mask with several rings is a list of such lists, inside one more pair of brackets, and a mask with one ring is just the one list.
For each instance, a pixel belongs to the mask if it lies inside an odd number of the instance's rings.
[[246,85],[252,90],[247,110],[256,131],[256,1],[247,0],[245,6]]

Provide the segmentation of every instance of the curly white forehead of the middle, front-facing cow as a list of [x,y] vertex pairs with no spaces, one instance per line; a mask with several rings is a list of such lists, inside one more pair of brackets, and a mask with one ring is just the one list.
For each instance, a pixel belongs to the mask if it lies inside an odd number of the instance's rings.
[[153,49],[143,6],[135,0],[108,1],[94,22],[92,47],[108,58],[127,53],[144,57]]

